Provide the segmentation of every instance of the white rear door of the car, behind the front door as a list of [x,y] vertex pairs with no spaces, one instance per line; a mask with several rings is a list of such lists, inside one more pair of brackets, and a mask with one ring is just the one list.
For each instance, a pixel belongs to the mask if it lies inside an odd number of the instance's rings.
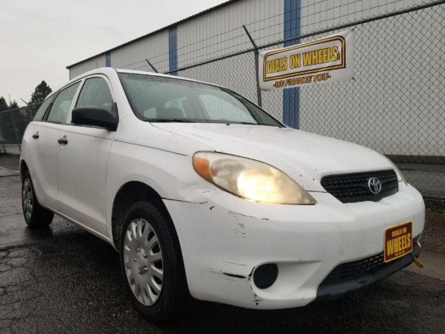
[[61,138],[60,126],[68,116],[79,84],[80,82],[77,82],[61,90],[50,106],[50,103],[44,102],[42,107],[45,109],[49,107],[49,110],[39,110],[41,113],[46,112],[43,119],[32,122],[26,131],[30,136],[26,140],[29,143],[30,173],[36,196],[41,204],[54,210],[58,210],[57,160],[60,146],[58,139]]

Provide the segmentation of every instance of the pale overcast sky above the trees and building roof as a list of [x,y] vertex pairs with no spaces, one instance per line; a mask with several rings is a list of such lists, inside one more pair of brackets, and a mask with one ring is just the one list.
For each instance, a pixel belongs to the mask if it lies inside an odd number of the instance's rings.
[[0,0],[0,96],[29,101],[65,68],[225,0]]

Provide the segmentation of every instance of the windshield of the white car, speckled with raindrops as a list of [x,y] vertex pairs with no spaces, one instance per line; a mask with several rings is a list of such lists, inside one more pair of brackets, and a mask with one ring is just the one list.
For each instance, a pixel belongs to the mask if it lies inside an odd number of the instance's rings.
[[283,126],[231,90],[147,74],[119,73],[119,78],[134,113],[143,121]]

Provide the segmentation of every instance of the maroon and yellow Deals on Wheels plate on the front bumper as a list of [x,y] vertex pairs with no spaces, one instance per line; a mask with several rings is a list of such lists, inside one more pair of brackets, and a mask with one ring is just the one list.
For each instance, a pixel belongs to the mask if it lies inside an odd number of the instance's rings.
[[392,226],[385,231],[384,262],[396,260],[413,251],[413,222]]

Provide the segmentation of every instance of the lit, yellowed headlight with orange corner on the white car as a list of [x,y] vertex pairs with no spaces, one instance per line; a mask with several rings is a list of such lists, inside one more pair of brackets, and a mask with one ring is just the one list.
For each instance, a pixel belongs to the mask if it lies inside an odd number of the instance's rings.
[[248,200],[274,204],[315,204],[298,183],[266,163],[215,152],[197,152],[193,167],[204,179]]

